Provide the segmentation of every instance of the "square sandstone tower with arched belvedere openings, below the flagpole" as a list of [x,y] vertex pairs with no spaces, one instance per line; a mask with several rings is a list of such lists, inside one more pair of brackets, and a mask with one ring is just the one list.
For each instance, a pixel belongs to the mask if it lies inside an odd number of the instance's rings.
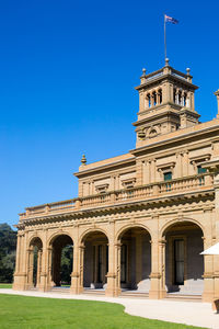
[[138,120],[134,123],[138,141],[169,134],[198,124],[194,93],[198,89],[193,77],[175,70],[165,59],[165,66],[147,75],[142,70],[139,92]]

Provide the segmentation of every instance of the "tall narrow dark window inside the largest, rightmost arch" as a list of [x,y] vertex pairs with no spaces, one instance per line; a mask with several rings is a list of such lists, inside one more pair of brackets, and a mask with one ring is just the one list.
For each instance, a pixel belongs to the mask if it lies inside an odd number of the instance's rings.
[[184,240],[174,240],[174,284],[184,284]]

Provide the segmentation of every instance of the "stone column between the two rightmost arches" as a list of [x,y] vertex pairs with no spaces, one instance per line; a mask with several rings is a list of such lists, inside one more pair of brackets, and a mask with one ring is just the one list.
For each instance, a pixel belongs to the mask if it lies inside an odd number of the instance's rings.
[[154,238],[151,241],[151,286],[149,298],[165,297],[165,240]]

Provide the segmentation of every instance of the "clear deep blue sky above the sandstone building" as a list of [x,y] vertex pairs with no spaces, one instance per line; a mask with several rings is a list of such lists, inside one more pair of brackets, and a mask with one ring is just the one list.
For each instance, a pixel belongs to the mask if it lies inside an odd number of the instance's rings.
[[142,67],[191,67],[201,121],[216,116],[218,1],[0,2],[0,223],[25,206],[77,196],[81,156],[135,147]]

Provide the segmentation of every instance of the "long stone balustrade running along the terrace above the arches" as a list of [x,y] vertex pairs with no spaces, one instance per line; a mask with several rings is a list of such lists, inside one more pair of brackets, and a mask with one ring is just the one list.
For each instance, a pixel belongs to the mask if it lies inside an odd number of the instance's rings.
[[26,213],[20,214],[20,219],[66,213],[67,211],[80,211],[95,206],[129,203],[131,201],[154,200],[160,196],[174,195],[177,193],[205,191],[212,189],[212,177],[208,173],[193,177],[174,179],[165,182],[123,189],[103,194],[89,195],[50,204],[44,204],[26,208]]

